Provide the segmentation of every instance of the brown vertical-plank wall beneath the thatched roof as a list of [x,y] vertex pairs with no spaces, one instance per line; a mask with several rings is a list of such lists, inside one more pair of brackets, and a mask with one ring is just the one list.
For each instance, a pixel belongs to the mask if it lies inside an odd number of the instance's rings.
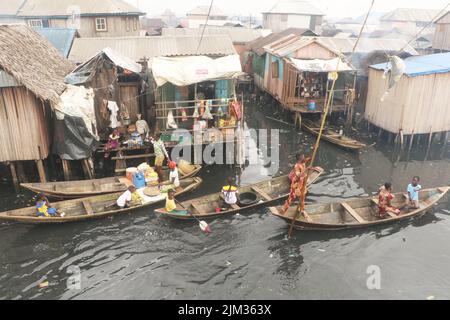
[[0,162],[45,159],[50,110],[24,87],[0,88]]

